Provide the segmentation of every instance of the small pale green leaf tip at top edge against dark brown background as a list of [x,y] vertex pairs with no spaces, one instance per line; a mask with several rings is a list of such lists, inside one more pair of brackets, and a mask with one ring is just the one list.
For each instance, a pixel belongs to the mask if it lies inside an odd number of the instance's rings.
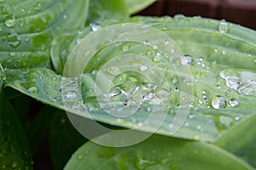
[[126,0],[129,14],[137,14],[138,12],[143,10],[143,8],[147,8],[149,5],[155,2],[156,0],[143,0],[143,1],[142,0],[141,1]]

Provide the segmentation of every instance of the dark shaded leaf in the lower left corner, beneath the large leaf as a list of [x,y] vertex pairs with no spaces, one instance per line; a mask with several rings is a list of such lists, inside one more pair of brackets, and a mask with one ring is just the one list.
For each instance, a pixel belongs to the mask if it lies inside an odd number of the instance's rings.
[[25,133],[12,105],[4,97],[3,88],[0,101],[0,168],[32,169]]

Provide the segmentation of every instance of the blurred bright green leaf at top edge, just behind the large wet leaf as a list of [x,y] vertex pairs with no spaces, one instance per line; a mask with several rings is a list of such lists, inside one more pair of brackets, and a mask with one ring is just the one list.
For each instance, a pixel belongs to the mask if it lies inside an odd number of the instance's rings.
[[91,0],[87,25],[101,20],[121,19],[129,16],[125,0]]

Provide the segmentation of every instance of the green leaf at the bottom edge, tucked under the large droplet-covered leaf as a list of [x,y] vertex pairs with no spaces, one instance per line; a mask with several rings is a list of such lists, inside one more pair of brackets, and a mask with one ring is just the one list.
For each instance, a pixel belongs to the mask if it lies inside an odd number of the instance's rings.
[[153,135],[140,144],[125,148],[88,142],[73,154],[64,169],[253,168],[212,144]]

